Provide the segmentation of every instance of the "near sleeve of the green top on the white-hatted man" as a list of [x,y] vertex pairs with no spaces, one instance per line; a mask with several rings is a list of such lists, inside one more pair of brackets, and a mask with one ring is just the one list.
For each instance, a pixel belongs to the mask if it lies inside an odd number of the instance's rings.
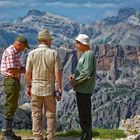
[[92,73],[95,69],[95,57],[94,55],[88,55],[84,58],[82,63],[82,69],[78,70],[79,75],[74,79],[73,83],[74,85],[80,84],[84,80],[90,79],[92,76]]

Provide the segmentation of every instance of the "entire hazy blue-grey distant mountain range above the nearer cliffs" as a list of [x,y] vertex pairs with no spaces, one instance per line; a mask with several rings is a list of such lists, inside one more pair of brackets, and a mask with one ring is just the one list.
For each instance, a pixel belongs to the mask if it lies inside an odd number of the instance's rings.
[[[139,46],[140,44],[140,13],[133,8],[122,8],[116,16],[89,25],[80,25],[68,18],[33,9],[14,23],[0,23],[0,29],[3,30],[0,31],[2,40],[0,46],[12,43],[18,34],[25,35],[34,46],[37,44],[38,31],[44,28],[50,30],[53,35],[55,47],[63,45],[65,41],[73,42],[79,32],[88,34],[94,45]],[[11,34],[12,40],[5,38],[6,32]]]

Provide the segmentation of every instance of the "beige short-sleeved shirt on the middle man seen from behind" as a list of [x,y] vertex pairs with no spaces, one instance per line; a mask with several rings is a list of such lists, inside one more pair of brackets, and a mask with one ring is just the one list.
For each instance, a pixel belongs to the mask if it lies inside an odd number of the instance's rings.
[[43,44],[32,50],[26,64],[26,70],[32,73],[32,94],[52,95],[55,91],[55,71],[61,69],[62,64],[56,50]]

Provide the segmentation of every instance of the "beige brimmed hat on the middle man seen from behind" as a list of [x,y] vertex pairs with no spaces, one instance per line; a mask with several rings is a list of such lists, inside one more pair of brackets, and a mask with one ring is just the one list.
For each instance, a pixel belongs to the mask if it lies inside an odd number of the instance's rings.
[[43,30],[43,31],[40,31],[38,33],[38,40],[47,40],[47,39],[52,39],[50,33],[48,30]]

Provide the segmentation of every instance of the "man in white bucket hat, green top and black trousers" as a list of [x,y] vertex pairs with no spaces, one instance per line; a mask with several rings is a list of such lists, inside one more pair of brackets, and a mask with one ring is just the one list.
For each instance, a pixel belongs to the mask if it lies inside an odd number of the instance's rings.
[[80,126],[80,140],[92,140],[91,96],[95,87],[96,58],[90,49],[89,37],[79,34],[76,38],[76,48],[81,55],[74,75],[70,75],[70,83],[76,91],[76,100]]

